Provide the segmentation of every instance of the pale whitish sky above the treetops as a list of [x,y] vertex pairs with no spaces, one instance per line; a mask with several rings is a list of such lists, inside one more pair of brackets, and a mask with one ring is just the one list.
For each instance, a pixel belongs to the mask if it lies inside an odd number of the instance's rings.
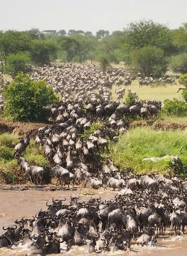
[[0,30],[122,30],[153,19],[177,28],[187,22],[186,0],[1,0]]

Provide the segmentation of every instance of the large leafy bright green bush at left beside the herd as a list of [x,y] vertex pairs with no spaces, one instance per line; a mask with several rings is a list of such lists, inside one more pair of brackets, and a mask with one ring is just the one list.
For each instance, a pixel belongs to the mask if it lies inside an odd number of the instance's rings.
[[44,121],[48,118],[44,107],[58,98],[44,80],[32,81],[28,75],[19,73],[3,90],[3,100],[6,116],[22,121]]

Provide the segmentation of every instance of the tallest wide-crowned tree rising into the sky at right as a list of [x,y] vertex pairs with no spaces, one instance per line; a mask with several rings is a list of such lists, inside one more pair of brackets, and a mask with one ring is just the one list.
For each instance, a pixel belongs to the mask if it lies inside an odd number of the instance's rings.
[[155,23],[151,19],[129,23],[124,28],[124,43],[138,49],[156,46],[162,48],[167,55],[175,51],[171,30],[167,26]]

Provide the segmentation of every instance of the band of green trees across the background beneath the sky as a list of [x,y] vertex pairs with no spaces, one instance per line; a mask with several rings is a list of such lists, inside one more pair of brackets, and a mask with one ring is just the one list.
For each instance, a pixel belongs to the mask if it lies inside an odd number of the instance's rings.
[[123,31],[109,34],[99,30],[96,35],[91,31],[37,28],[0,31],[0,62],[7,73],[16,61],[23,65],[44,65],[57,59],[84,63],[100,61],[101,56],[111,63],[124,61],[145,75],[153,72],[160,76],[168,67],[187,73],[187,23],[171,30],[152,20],[139,20]]

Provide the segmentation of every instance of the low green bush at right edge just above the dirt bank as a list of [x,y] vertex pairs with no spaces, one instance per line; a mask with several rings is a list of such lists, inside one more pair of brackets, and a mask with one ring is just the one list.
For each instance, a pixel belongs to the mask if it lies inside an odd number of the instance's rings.
[[173,100],[165,100],[163,113],[167,115],[175,115],[177,117],[184,117],[187,115],[187,103],[173,98]]

